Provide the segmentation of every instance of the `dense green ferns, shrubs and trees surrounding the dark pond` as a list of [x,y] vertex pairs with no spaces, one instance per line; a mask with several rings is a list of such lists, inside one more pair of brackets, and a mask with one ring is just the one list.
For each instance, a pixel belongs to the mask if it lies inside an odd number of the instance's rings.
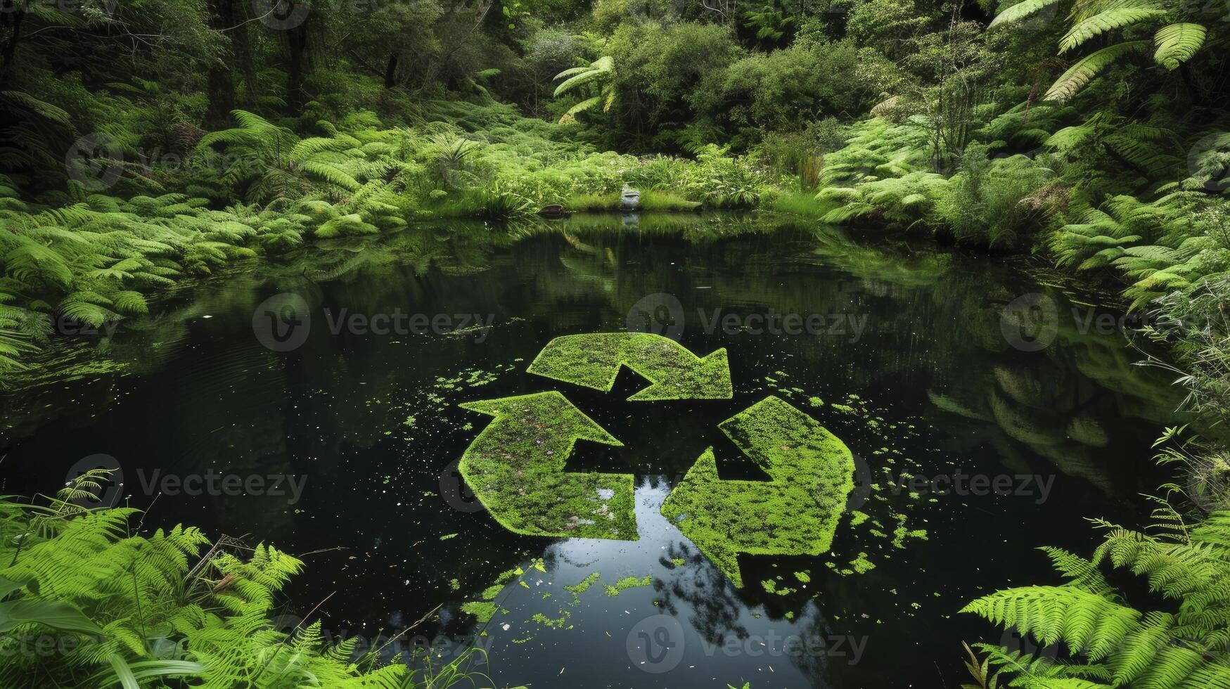
[[[1155,524],[1096,522],[1092,554],[1039,555],[1054,581],[969,603],[1054,650],[969,640],[973,685],[1230,688],[1228,21],[1188,0],[2,0],[0,375],[54,375],[38,351],[65,332],[223,267],[617,209],[627,186],[646,210],[1032,255],[1148,314],[1135,336],[1202,432],[1159,440]],[[102,479],[0,503],[0,643],[92,640],[6,662],[5,685],[470,675],[276,629],[298,560],[79,507]]]

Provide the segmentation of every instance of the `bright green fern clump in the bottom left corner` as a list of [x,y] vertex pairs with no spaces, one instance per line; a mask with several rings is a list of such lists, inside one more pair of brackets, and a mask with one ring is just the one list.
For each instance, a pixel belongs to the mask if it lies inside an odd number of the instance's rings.
[[[144,532],[130,508],[89,508],[95,470],[46,503],[0,501],[5,687],[449,687],[471,658],[411,672],[321,623],[278,629],[276,595],[303,564],[264,544]],[[135,520],[135,524],[134,524]],[[208,548],[207,548],[208,546]],[[204,552],[202,552],[204,550]],[[411,658],[405,658],[410,661]]]

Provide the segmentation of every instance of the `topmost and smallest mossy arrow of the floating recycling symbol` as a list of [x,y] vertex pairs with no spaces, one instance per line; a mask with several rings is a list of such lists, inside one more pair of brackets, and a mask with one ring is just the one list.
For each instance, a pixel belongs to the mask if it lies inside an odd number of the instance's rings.
[[530,373],[610,392],[620,367],[649,381],[629,400],[728,400],[731,367],[726,349],[697,357],[686,347],[651,332],[566,335],[547,342]]

